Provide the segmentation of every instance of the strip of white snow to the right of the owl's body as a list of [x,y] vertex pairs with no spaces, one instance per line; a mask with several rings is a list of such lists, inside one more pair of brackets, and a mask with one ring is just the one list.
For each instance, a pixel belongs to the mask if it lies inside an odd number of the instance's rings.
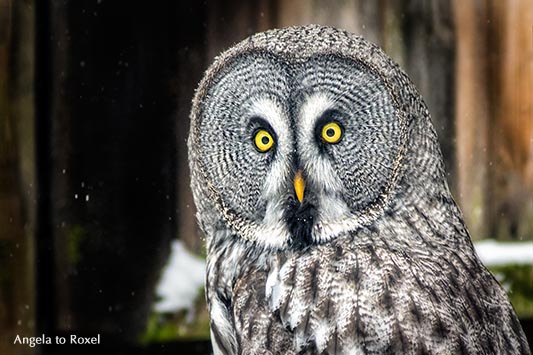
[[533,240],[499,242],[487,239],[475,242],[474,247],[485,266],[533,264]]

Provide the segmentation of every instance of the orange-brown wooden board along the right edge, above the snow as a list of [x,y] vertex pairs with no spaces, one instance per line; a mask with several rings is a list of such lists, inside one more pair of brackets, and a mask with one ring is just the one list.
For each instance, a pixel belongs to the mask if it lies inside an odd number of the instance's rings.
[[533,2],[490,1],[490,236],[533,239]]

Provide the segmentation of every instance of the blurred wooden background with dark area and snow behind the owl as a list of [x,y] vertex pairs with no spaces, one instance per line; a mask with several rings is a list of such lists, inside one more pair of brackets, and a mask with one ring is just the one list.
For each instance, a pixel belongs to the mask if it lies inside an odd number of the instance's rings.
[[[0,354],[209,353],[194,89],[234,42],[309,23],[377,43],[419,88],[531,342],[531,0],[0,0]],[[41,334],[102,343],[13,344]]]

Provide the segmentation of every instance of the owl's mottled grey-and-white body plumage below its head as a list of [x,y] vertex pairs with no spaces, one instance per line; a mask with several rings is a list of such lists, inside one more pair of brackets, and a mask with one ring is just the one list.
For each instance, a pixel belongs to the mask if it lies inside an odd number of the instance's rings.
[[[236,342],[241,347],[237,353],[526,351],[523,339],[520,343],[505,336],[514,334],[518,321],[510,306],[502,307],[505,294],[473,257],[471,246],[461,246],[466,254],[439,252],[442,246],[429,249],[431,243],[418,235],[420,240],[407,249],[390,235],[403,232],[398,226],[410,228],[409,223],[391,216],[389,223],[374,230],[312,250],[268,257],[263,252],[256,260],[254,250],[232,260],[233,265],[246,265],[242,270],[210,270],[237,273],[231,290]],[[420,252],[413,251],[417,247]],[[227,261],[226,257],[221,255]],[[252,351],[252,344],[259,348]]]

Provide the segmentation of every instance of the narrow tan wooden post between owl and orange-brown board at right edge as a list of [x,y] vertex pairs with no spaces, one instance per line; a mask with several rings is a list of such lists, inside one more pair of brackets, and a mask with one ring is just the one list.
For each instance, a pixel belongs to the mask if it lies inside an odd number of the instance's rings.
[[454,3],[457,29],[456,132],[459,204],[473,239],[487,237],[488,120],[486,87],[487,6],[484,1]]

